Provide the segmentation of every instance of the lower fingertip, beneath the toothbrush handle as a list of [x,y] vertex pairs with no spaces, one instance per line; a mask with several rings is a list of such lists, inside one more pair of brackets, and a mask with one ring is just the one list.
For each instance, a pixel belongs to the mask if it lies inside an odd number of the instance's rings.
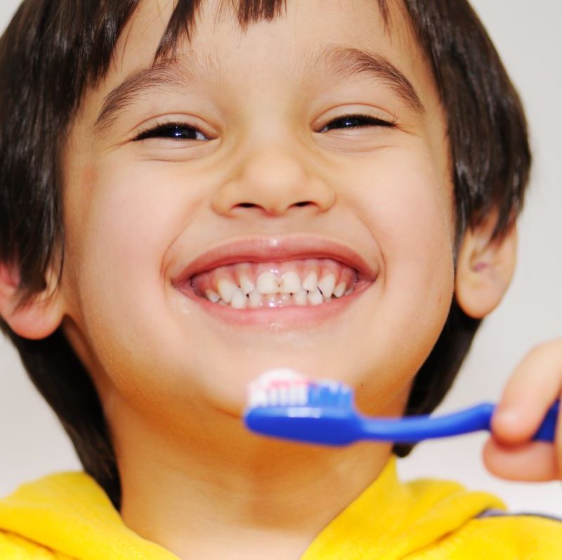
[[483,461],[492,474],[509,481],[544,482],[558,478],[554,445],[544,442],[507,447],[488,439]]

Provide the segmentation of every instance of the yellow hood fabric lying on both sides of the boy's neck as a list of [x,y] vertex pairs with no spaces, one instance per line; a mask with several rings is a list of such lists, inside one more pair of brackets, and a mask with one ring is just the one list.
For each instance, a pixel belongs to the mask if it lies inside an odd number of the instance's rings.
[[[400,559],[485,509],[502,507],[457,483],[400,483],[392,458],[301,560]],[[79,560],[178,560],[130,530],[102,488],[81,472],[46,476],[0,500],[1,530]]]

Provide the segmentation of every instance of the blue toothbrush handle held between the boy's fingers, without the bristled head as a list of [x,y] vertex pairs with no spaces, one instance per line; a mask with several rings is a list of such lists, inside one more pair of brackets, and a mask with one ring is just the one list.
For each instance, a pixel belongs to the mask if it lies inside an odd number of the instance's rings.
[[[492,403],[483,403],[439,417],[416,416],[396,420],[359,417],[358,428],[362,438],[416,443],[424,439],[457,436],[472,431],[490,431],[494,410],[495,405]],[[550,408],[533,440],[554,441],[557,419],[558,403]]]

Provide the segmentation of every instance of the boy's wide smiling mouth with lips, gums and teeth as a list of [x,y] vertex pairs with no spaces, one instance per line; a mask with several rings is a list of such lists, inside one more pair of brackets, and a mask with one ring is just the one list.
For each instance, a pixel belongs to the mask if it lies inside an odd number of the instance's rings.
[[308,233],[221,243],[195,256],[172,285],[227,323],[308,328],[344,312],[378,276],[370,248],[360,253]]

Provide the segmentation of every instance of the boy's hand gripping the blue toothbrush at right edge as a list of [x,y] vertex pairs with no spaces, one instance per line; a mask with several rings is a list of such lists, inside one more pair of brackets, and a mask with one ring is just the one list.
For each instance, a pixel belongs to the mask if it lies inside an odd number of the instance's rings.
[[530,351],[504,389],[483,452],[492,474],[518,481],[562,479],[562,413],[556,443],[531,441],[547,410],[561,396],[562,339],[557,339]]

